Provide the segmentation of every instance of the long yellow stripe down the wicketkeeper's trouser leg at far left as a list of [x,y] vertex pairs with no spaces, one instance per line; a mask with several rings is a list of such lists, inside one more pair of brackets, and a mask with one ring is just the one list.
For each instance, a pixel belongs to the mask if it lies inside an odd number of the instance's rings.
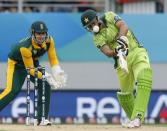
[[6,95],[8,95],[12,90],[12,81],[13,81],[13,74],[16,62],[8,59],[8,69],[7,69],[7,87],[5,90],[0,94],[0,99],[3,99]]

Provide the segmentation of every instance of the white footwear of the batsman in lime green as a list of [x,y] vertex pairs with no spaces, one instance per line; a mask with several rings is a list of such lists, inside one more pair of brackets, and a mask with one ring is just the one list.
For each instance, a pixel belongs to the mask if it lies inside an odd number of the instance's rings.
[[125,128],[139,128],[141,127],[141,120],[139,118],[135,118],[132,121],[122,124]]

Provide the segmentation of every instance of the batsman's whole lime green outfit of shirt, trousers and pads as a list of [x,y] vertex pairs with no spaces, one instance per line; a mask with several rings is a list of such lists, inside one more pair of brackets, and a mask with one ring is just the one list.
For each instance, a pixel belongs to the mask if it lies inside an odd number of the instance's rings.
[[[99,49],[105,44],[114,49],[117,46],[116,39],[119,34],[116,22],[121,18],[113,12],[107,12],[101,20],[106,27],[94,34],[94,44]],[[125,73],[119,65],[115,66],[121,89],[121,93],[118,93],[118,100],[130,120],[139,117],[143,121],[151,92],[152,71],[147,51],[144,48],[138,48],[141,46],[132,31],[128,30],[127,38],[129,54],[126,60],[129,73]],[[134,99],[133,95],[127,94],[133,94],[135,82],[137,84]]]

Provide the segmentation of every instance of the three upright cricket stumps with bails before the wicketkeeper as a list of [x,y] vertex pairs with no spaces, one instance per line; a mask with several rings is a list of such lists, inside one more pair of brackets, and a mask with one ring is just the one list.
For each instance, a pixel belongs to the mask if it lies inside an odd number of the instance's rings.
[[42,123],[45,121],[45,67],[27,68],[26,125],[30,125],[30,70],[34,69],[34,126],[38,124],[38,71],[42,72]]

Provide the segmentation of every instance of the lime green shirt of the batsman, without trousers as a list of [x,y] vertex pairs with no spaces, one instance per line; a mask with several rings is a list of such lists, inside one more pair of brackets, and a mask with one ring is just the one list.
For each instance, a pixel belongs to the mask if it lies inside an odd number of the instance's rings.
[[[99,33],[94,34],[94,44],[99,49],[105,44],[109,45],[111,49],[114,49],[117,46],[116,39],[119,34],[116,22],[121,20],[121,18],[113,12],[107,12],[101,20],[105,23],[106,27],[102,28]],[[132,31],[128,31],[127,38],[129,40],[129,51],[139,46]]]

